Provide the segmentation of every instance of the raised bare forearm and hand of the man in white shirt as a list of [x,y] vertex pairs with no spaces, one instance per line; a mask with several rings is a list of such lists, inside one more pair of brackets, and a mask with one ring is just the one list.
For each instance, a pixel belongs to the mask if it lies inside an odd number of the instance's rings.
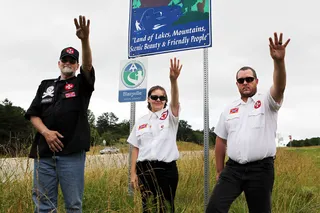
[[290,39],[282,44],[282,33],[280,33],[279,39],[277,33],[274,33],[274,41],[272,38],[269,38],[269,42],[270,55],[274,64],[273,85],[270,89],[270,94],[277,103],[281,103],[286,88],[286,67],[284,58],[286,47],[289,44]]

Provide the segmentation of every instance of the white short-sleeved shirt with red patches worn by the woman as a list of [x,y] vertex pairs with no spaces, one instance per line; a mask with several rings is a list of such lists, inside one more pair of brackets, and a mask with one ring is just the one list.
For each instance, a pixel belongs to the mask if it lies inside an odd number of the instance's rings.
[[176,143],[178,126],[179,118],[172,114],[170,107],[157,112],[149,111],[147,115],[138,119],[127,140],[139,148],[137,162],[177,160],[179,158]]

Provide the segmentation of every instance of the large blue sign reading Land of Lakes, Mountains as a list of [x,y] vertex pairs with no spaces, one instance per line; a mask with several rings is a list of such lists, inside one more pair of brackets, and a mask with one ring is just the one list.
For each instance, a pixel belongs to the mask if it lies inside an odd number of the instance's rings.
[[210,0],[131,0],[128,58],[211,47]]

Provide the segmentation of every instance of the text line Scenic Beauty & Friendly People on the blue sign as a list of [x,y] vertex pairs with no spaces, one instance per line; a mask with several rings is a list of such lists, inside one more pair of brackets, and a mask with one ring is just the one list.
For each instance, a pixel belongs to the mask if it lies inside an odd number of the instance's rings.
[[183,36],[182,38],[180,37],[179,39],[172,38],[172,39],[167,39],[166,41],[163,41],[163,42],[139,44],[137,46],[130,46],[130,51],[134,52],[134,51],[141,51],[141,50],[148,50],[148,49],[159,50],[160,48],[177,46],[177,45],[188,45],[189,43],[201,44],[207,40],[208,35],[209,35],[208,33],[207,34],[203,33],[202,35],[199,35],[199,36]]

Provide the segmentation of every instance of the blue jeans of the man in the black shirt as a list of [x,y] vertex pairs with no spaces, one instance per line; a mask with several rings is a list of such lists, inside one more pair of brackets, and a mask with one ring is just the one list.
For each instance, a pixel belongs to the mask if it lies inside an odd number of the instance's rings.
[[32,199],[35,213],[57,212],[59,183],[66,212],[82,212],[85,160],[85,151],[34,159]]

